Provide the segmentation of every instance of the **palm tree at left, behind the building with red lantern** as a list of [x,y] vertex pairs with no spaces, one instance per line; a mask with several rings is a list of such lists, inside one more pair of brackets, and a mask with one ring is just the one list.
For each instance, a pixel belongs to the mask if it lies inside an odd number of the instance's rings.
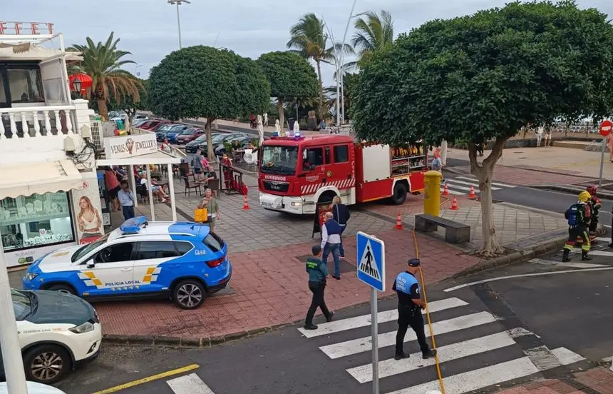
[[[135,102],[140,101],[138,88],[142,88],[141,82],[130,72],[120,69],[125,64],[135,64],[135,61],[123,59],[130,52],[117,49],[119,39],[113,41],[113,32],[110,33],[104,44],[87,37],[87,45],[75,44],[68,51],[81,52],[83,61],[77,67],[78,70],[91,76],[92,86],[89,94],[98,103],[98,111],[103,119],[108,119],[108,107],[106,103],[110,97],[115,97],[119,102],[123,96],[131,96]],[[112,94],[111,94],[112,93]]]

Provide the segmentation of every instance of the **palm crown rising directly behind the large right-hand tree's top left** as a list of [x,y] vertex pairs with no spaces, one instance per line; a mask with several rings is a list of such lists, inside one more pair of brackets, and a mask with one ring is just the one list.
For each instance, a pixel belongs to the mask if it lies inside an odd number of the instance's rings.
[[371,54],[384,51],[393,44],[393,21],[388,11],[367,12],[366,20],[359,18],[351,44],[359,54],[359,61],[366,61]]

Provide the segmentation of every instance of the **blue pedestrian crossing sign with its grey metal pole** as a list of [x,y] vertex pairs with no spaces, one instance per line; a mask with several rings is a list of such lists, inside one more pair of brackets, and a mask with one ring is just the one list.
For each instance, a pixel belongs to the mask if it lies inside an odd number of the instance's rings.
[[371,287],[371,343],[373,353],[373,394],[379,393],[377,292],[385,291],[385,243],[359,231],[356,234],[357,276]]

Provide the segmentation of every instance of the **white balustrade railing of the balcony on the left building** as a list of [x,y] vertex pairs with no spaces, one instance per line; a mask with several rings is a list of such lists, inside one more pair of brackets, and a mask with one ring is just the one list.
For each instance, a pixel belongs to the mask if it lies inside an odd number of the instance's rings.
[[74,106],[0,108],[0,140],[74,133]]

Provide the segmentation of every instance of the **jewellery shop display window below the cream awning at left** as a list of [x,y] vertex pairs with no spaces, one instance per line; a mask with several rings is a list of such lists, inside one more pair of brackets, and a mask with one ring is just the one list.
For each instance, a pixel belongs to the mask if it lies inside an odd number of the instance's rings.
[[0,236],[4,251],[74,242],[65,192],[0,200]]

